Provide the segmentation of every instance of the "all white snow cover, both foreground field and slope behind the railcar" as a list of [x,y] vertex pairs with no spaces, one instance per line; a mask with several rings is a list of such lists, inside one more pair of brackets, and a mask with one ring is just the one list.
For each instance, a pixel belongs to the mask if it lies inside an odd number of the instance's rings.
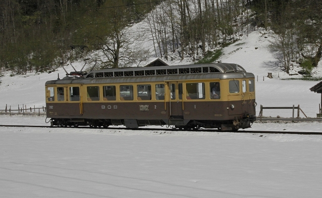
[[[269,35],[254,32],[224,50],[222,62],[258,76],[259,106],[300,105],[319,112],[318,82],[289,78],[274,66]],[[258,49],[255,49],[258,48]],[[169,63],[171,64],[171,63]],[[180,64],[176,62],[175,64]],[[186,62],[181,62],[186,64]],[[73,64],[80,69],[83,63]],[[67,66],[68,71],[72,71]],[[317,68],[316,77],[321,77]],[[266,76],[272,73],[273,79]],[[0,109],[45,106],[45,82],[64,76],[29,73],[0,78]],[[320,76],[319,76],[320,75]],[[279,76],[279,77],[278,77]],[[264,77],[264,81],[263,81]],[[294,76],[293,76],[294,77]],[[264,116],[291,117],[291,110]],[[301,117],[304,115],[301,113]],[[0,125],[49,125],[46,116],[0,115]],[[47,120],[48,121],[48,120]],[[2,198],[320,198],[319,135],[0,127]],[[165,127],[164,127],[165,129]],[[321,132],[320,122],[260,123],[249,130]]]

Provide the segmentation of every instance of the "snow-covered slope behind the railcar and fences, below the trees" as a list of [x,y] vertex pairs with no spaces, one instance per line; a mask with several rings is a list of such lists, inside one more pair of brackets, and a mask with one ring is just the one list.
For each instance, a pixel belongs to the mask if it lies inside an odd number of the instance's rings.
[[[269,33],[255,31],[249,36],[241,37],[241,40],[224,49],[224,54],[219,58],[221,62],[238,63],[247,71],[252,72],[257,77],[256,97],[259,106],[295,106],[300,105],[304,113],[309,117],[315,117],[319,112],[319,103],[321,95],[311,92],[309,89],[316,85],[317,81],[302,80],[282,80],[300,78],[300,75],[289,76],[275,65],[276,60],[268,49]],[[167,62],[173,64],[190,64],[188,60]],[[83,62],[73,63],[76,69],[83,67]],[[68,72],[73,68],[68,65],[65,67]],[[322,77],[322,61],[319,67],[315,69],[314,77]],[[272,73],[273,79],[267,78]],[[295,72],[295,71],[294,71]],[[0,78],[0,109],[5,105],[11,105],[11,108],[18,108],[18,105],[27,105],[27,107],[45,106],[45,82],[56,79],[57,76],[63,77],[65,71],[59,68],[57,71],[48,73],[28,73],[25,75],[11,76],[6,73]],[[290,117],[292,114],[288,110],[266,110],[265,116],[277,115]],[[301,115],[303,117],[303,115]]]

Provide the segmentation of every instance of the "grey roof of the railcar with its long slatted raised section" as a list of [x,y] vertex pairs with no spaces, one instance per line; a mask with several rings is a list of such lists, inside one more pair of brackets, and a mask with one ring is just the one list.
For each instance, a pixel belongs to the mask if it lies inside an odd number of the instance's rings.
[[209,63],[154,67],[131,67],[91,71],[83,77],[66,76],[48,84],[91,84],[175,81],[187,79],[253,78],[254,74],[235,63]]

